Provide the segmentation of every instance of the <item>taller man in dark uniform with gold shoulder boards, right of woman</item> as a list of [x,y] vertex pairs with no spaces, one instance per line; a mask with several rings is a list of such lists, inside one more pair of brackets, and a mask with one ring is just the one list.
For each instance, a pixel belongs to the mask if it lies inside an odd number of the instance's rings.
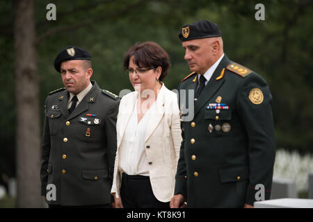
[[193,73],[178,87],[183,142],[170,206],[252,207],[269,199],[275,136],[268,85],[225,56],[216,24],[183,26],[179,39]]

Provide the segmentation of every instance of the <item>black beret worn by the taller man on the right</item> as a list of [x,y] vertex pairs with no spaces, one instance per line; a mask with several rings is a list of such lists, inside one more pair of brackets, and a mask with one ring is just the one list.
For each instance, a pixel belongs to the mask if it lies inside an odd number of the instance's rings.
[[178,37],[184,42],[188,40],[202,39],[204,37],[218,37],[221,35],[222,32],[218,28],[217,24],[207,20],[200,20],[182,26]]

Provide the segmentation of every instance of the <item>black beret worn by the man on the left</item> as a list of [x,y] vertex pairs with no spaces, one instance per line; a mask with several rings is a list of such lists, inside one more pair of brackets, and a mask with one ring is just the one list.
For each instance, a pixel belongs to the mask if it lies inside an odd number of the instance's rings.
[[54,60],[56,71],[61,72],[61,63],[67,60],[91,60],[91,56],[85,49],[77,46],[68,46],[58,53],[58,56]]

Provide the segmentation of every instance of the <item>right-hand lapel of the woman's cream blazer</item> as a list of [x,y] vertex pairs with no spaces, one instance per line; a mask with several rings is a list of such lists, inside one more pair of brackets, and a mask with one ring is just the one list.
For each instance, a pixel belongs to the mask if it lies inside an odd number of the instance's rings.
[[157,128],[159,122],[161,121],[163,114],[165,112],[164,103],[166,96],[166,87],[163,83],[161,90],[159,91],[157,101],[154,103],[154,107],[150,111],[150,118],[147,124],[147,130],[145,132],[145,142],[149,139],[150,135],[153,133],[154,129]]

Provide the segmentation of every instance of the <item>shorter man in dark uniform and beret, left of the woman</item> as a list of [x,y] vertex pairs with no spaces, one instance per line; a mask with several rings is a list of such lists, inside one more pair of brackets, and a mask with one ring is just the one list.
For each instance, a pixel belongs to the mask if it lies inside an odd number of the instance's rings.
[[118,96],[90,81],[85,49],[63,49],[54,67],[65,87],[45,102],[42,196],[49,207],[110,207]]

